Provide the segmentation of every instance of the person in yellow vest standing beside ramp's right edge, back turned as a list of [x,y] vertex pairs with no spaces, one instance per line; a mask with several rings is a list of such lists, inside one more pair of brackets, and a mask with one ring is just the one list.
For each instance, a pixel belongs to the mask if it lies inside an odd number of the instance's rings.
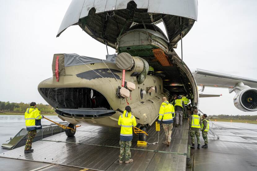
[[197,148],[200,149],[200,132],[199,129],[201,128],[201,118],[200,116],[197,115],[198,110],[195,109],[193,115],[190,116],[189,119],[189,130],[190,130],[190,136],[191,136],[191,143],[193,148],[195,148],[194,146],[194,136],[196,136],[197,139]]

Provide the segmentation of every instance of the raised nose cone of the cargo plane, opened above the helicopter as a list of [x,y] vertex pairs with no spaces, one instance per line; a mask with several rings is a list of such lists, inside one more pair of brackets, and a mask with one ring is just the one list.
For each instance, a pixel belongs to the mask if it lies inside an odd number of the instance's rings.
[[117,38],[136,24],[163,22],[171,45],[185,36],[197,20],[197,0],[73,0],[63,18],[57,37],[69,26],[79,25],[101,43],[115,48]]

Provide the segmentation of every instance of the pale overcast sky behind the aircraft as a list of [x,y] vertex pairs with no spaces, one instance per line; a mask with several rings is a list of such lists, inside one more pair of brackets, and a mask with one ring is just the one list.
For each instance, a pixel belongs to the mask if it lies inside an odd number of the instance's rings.
[[[37,85],[52,76],[54,53],[77,53],[104,59],[105,45],[79,26],[60,37],[57,31],[71,0],[0,0],[0,101],[44,103]],[[201,68],[257,79],[255,58],[257,1],[198,0],[198,21],[183,39],[183,58],[189,68]],[[176,52],[181,56],[180,43]],[[109,47],[109,53],[115,50]],[[199,88],[201,89],[201,88]],[[207,114],[249,114],[233,105],[235,93],[205,88],[200,98]]]

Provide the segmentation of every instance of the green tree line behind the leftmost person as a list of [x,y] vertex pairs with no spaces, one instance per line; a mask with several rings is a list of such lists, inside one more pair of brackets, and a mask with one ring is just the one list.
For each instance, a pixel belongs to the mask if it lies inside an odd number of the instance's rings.
[[[0,111],[1,112],[19,112],[23,113],[26,111],[27,108],[29,108],[29,103],[10,103],[9,101],[4,102],[0,101]],[[55,113],[54,109],[52,109],[52,106],[50,105],[44,105],[42,103],[37,104],[37,108],[40,109],[41,113]]]

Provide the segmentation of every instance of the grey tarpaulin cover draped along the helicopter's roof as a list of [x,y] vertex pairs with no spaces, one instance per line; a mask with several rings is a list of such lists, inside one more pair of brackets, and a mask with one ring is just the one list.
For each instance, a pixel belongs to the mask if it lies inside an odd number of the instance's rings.
[[[91,58],[91,57],[87,57],[87,56],[80,56],[76,53],[70,53],[70,54],[63,53],[63,54],[64,54],[64,66],[65,67],[76,66],[76,65],[84,65],[83,63],[90,64],[90,63],[101,63],[102,62],[102,59]],[[108,61],[108,60],[103,60],[103,61],[107,62],[107,63],[115,63],[115,62],[111,62],[111,61]]]

